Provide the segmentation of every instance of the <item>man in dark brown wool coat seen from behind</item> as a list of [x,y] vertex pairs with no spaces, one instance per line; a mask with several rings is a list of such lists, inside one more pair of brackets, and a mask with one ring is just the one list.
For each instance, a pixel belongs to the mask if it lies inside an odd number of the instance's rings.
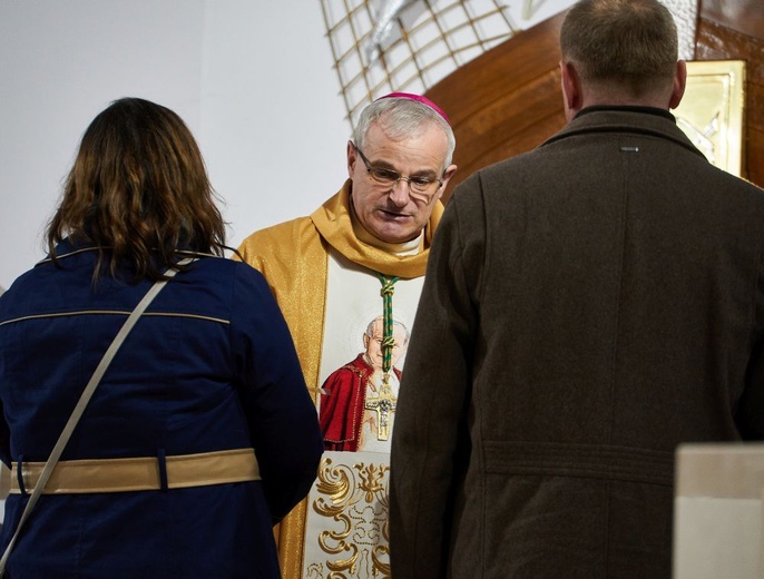
[[435,235],[395,579],[667,579],[677,444],[764,438],[764,192],[676,127],[657,0],[578,2],[560,43],[568,126],[460,185]]

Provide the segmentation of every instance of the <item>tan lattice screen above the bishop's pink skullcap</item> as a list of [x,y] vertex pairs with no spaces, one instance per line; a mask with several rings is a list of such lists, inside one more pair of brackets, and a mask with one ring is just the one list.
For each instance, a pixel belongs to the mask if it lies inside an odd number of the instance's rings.
[[399,2],[403,7],[391,20],[389,37],[376,45],[382,4],[322,0],[351,125],[372,99],[394,90],[424,92],[521,29],[499,0],[419,0]]

